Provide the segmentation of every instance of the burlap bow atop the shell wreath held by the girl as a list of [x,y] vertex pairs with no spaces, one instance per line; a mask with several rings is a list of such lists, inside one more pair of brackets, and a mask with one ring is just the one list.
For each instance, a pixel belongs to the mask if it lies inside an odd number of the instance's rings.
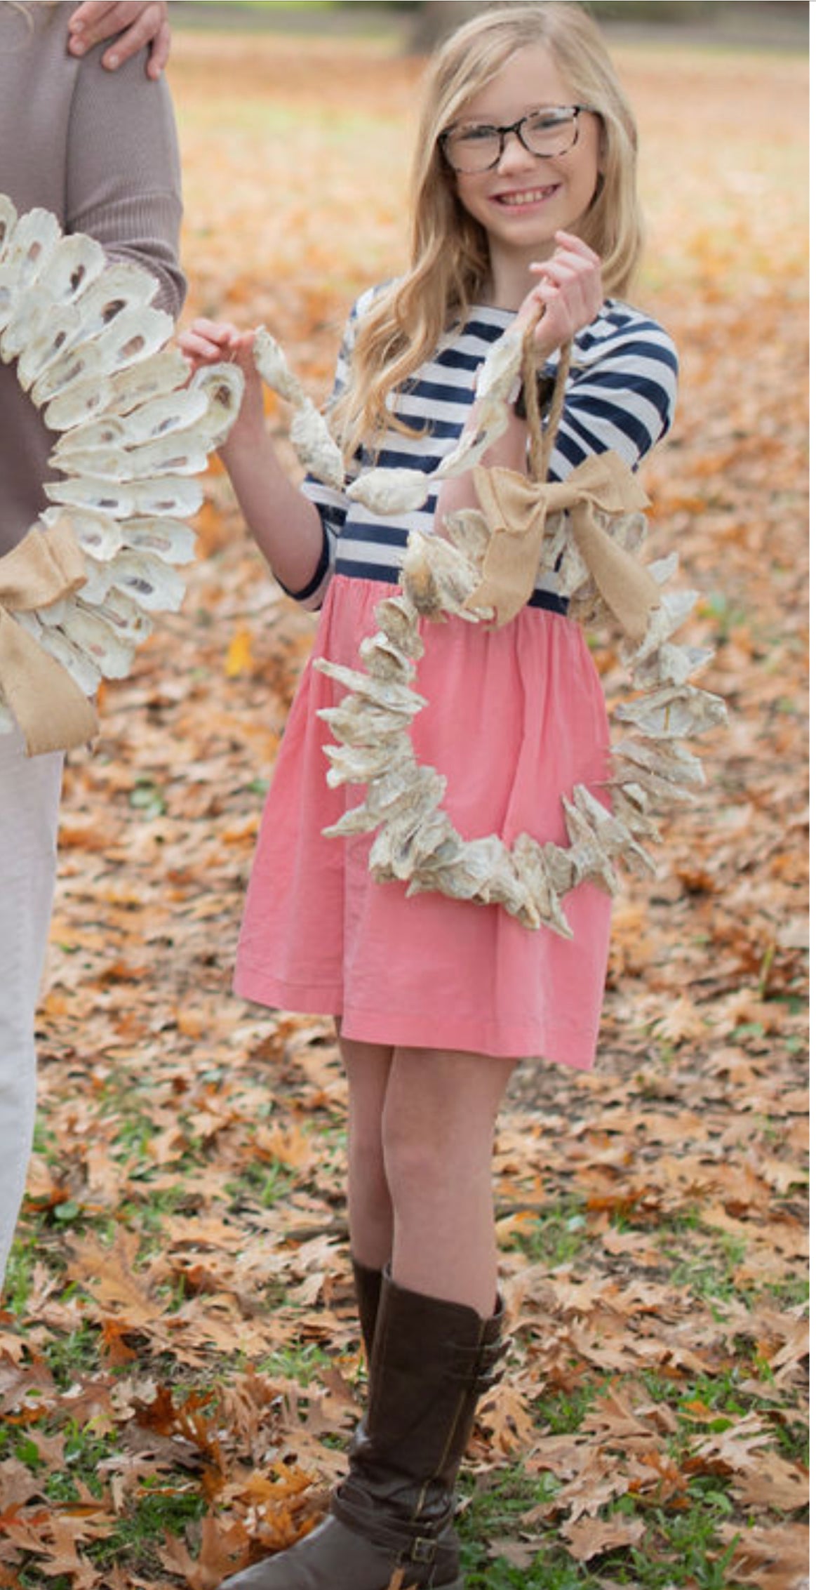
[[490,529],[482,582],[466,607],[492,607],[496,626],[509,623],[530,601],[547,514],[569,509],[577,550],[627,639],[639,642],[660,590],[641,563],[612,541],[595,518],[630,514],[649,498],[617,453],[584,460],[568,480],[530,480],[512,469],[472,472],[479,506]]

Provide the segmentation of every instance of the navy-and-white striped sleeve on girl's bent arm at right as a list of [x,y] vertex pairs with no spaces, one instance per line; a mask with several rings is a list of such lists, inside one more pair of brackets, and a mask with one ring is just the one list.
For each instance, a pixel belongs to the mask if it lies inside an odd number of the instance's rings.
[[[598,331],[603,329],[603,335]],[[636,469],[668,431],[678,396],[671,337],[628,305],[608,305],[592,340],[576,337],[573,372],[550,474],[563,480],[592,453],[612,450]]]

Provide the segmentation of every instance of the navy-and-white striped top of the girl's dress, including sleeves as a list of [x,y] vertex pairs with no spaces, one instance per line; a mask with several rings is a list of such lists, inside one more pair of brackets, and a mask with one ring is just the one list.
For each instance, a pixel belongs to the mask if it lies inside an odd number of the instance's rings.
[[[352,313],[337,363],[336,393],[348,378],[355,326],[369,302],[371,293],[358,301]],[[394,402],[399,417],[420,434],[414,439],[399,431],[390,432],[377,458],[379,467],[433,474],[458,442],[474,401],[477,370],[490,345],[514,318],[514,310],[476,307],[463,329],[442,339],[434,356],[406,383]],[[557,363],[554,356],[552,372]],[[608,299],[592,326],[573,339],[550,479],[563,480],[592,453],[609,448],[636,469],[671,425],[676,383],[678,356],[666,332],[628,304]],[[359,469],[369,466],[371,460],[361,460]],[[291,593],[307,607],[320,606],[334,572],[396,584],[409,531],[433,531],[437,490],[422,509],[393,518],[377,517],[313,479],[304,482],[304,491],[320,509],[324,529],[323,556],[313,579],[305,590]],[[531,603],[566,612],[552,574],[539,577]]]

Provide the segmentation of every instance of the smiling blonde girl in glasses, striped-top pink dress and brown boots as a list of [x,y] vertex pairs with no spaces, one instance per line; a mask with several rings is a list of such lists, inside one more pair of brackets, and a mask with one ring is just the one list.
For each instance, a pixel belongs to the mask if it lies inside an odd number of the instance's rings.
[[[620,301],[641,246],[636,135],[601,38],[576,3],[479,13],[433,62],[414,167],[406,275],[352,315],[332,423],[355,466],[431,472],[477,423],[492,342],[534,324],[542,370],[574,339],[552,474],[616,448],[631,467],[666,431],[676,359]],[[242,413],[223,450],[247,522],[285,588],[323,604],[317,653],[355,666],[398,580],[410,528],[444,533],[471,477],[401,522],[331,488],[297,490],[264,429],[251,334],[197,321],[194,364],[239,358]],[[511,413],[485,464],[527,467]],[[606,776],[606,709],[582,631],[552,580],[492,630],[425,623],[417,755],[447,776],[466,838],[563,843],[561,792]],[[593,1062],[609,900],[568,897],[574,938],[499,906],[374,882],[369,838],[324,838],[359,792],[326,787],[307,668],[269,795],[240,938],[237,992],[337,1018],[348,1073],[348,1212],[369,1404],[331,1515],[231,1590],[461,1590],[457,1471],[501,1353],[492,1207],[496,1111],[520,1056]],[[399,1579],[399,1573],[402,1577]]]

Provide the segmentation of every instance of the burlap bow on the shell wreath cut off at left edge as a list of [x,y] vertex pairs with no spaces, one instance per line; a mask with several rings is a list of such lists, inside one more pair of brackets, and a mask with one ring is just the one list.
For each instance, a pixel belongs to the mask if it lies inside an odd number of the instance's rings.
[[51,607],[84,580],[84,558],[67,517],[48,531],[30,529],[0,558],[0,688],[30,757],[84,746],[99,725],[70,674],[13,614]]

